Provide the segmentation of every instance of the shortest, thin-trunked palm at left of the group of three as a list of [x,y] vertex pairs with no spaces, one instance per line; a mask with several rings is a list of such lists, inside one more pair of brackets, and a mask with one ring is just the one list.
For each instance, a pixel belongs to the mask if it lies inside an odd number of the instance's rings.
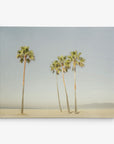
[[56,86],[57,86],[57,94],[58,94],[58,102],[59,102],[59,109],[60,109],[60,112],[62,112],[62,107],[61,107],[61,102],[60,102],[60,96],[59,96],[59,88],[58,88],[58,75],[60,74],[61,72],[61,65],[60,63],[56,60],[54,61],[51,66],[51,71],[54,73],[56,72]]

